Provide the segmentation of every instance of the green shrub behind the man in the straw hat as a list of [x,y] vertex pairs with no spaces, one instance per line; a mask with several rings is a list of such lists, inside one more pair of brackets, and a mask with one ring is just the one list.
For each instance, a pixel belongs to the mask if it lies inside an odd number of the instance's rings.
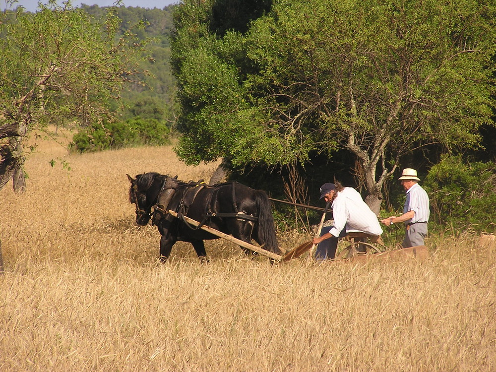
[[433,217],[453,229],[494,231],[496,168],[491,163],[464,163],[461,156],[443,156],[427,176],[425,187]]

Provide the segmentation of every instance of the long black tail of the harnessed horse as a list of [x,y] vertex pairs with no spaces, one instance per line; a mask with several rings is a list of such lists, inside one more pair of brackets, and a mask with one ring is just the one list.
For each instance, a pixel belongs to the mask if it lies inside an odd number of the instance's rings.
[[276,230],[274,225],[274,218],[272,217],[272,209],[269,198],[264,191],[255,191],[255,202],[258,210],[258,243],[264,249],[281,254],[281,250],[277,245]]

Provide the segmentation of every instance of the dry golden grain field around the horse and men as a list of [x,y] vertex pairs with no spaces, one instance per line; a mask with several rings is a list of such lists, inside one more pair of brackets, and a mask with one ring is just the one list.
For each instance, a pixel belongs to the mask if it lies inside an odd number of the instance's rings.
[[159,263],[125,174],[215,168],[43,142],[28,190],[0,191],[0,371],[496,371],[496,247],[478,237],[431,237],[425,262],[271,265],[218,240],[208,264],[184,243]]

